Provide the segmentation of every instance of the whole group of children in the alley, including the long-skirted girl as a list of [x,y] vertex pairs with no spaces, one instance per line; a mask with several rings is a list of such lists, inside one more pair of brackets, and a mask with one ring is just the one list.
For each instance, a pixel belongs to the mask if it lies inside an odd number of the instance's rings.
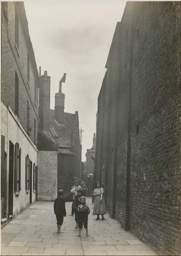
[[[72,208],[73,212],[75,213],[75,228],[78,228],[77,236],[81,235],[81,229],[83,228],[83,225],[86,230],[86,236],[89,236],[88,215],[90,213],[90,209],[88,205],[86,205],[86,198],[83,196],[83,190],[78,186],[76,188],[77,189]],[[95,196],[93,215],[97,215],[97,220],[99,219],[99,215],[102,215],[102,220],[104,220],[104,214],[106,214],[106,205],[103,198],[103,192],[104,191],[103,188],[101,188],[101,184],[97,182],[96,188],[93,192],[93,196]],[[63,224],[63,217],[66,217],[65,200],[63,198],[63,194],[63,190],[59,190],[58,197],[54,202],[54,213],[57,218],[57,233],[63,233],[60,231],[60,229],[61,225]]]

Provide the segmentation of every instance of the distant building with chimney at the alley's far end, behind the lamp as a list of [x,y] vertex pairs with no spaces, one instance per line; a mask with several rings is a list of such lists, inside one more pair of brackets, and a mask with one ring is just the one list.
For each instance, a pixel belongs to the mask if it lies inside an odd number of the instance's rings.
[[[95,147],[96,147],[96,137],[94,133],[94,137],[93,137],[94,151],[95,151]],[[87,149],[86,162],[84,162],[84,172],[83,172],[83,180],[84,182],[86,182],[86,186],[87,186],[86,196],[92,196],[93,179],[94,179],[94,161],[90,158],[89,151],[90,149]]]

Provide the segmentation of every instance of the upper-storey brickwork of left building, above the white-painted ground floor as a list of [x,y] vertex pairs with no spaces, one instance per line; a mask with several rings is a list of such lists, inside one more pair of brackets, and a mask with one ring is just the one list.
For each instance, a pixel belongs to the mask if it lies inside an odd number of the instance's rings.
[[[18,8],[17,8],[18,9]],[[36,120],[36,138],[38,133],[38,106],[35,105],[35,74],[30,56],[30,88],[27,83],[27,52],[25,33],[19,18],[19,54],[15,49],[15,2],[8,2],[8,11],[2,15],[2,65],[1,65],[1,100],[15,112],[15,72],[19,79],[19,120],[27,130],[27,101],[30,103],[30,138],[34,143],[34,119]],[[37,88],[38,102],[38,88]]]

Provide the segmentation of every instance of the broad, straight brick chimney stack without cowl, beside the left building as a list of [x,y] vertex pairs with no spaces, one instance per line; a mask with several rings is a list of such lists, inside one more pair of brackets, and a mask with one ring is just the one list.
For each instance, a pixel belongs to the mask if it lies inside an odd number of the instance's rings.
[[47,71],[44,71],[44,75],[41,76],[40,68],[40,82],[42,87],[39,92],[39,117],[40,128],[43,131],[49,131],[50,128],[50,78],[47,75]]

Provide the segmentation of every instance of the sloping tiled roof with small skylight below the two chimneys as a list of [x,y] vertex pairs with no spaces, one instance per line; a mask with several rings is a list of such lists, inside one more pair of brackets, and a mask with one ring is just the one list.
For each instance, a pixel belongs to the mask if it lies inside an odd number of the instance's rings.
[[51,131],[43,133],[52,141],[58,144],[59,147],[71,147],[72,132],[74,126],[75,114],[64,113],[64,125],[60,125],[54,118],[55,110],[50,109],[50,127],[53,127],[58,134],[58,138],[54,137]]

